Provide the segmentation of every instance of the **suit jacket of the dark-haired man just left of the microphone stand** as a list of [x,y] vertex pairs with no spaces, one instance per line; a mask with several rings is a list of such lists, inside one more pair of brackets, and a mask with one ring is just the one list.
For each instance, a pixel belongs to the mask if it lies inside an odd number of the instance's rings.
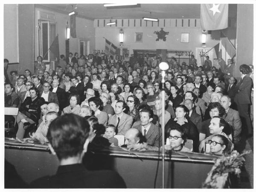
[[[137,125],[134,127],[142,133],[142,125]],[[162,145],[162,130],[151,123],[149,130],[146,134],[147,143],[154,147],[160,147]]]

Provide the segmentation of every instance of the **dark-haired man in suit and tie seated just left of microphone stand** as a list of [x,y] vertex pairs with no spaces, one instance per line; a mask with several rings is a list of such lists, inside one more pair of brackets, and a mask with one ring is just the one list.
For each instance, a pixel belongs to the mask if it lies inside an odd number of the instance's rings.
[[145,136],[148,145],[160,147],[162,144],[162,130],[151,122],[153,120],[153,116],[153,110],[142,109],[140,112],[141,124],[134,128],[139,130],[143,136]]

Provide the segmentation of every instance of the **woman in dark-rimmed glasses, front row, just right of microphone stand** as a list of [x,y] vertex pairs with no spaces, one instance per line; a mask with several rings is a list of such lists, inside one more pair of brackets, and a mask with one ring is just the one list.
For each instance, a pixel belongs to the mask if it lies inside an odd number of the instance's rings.
[[186,135],[179,124],[176,123],[173,127],[170,127],[167,131],[167,136],[168,138],[165,145],[166,150],[191,152],[189,148],[184,146],[186,143]]

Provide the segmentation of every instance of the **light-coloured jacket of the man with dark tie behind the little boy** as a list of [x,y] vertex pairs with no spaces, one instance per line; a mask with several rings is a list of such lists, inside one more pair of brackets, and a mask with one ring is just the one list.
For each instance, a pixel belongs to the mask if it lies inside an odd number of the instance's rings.
[[[128,131],[131,128],[133,122],[132,116],[127,115],[126,113],[123,113],[119,124],[118,124],[118,132],[117,135],[125,135],[126,131]],[[116,126],[117,124],[117,116],[113,115],[108,119],[108,124],[113,124]]]

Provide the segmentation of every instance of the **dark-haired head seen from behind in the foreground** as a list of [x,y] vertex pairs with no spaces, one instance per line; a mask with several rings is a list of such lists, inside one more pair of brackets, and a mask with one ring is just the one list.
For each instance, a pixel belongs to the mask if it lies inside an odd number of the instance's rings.
[[47,139],[60,160],[80,157],[87,151],[90,125],[84,118],[67,114],[49,125]]

